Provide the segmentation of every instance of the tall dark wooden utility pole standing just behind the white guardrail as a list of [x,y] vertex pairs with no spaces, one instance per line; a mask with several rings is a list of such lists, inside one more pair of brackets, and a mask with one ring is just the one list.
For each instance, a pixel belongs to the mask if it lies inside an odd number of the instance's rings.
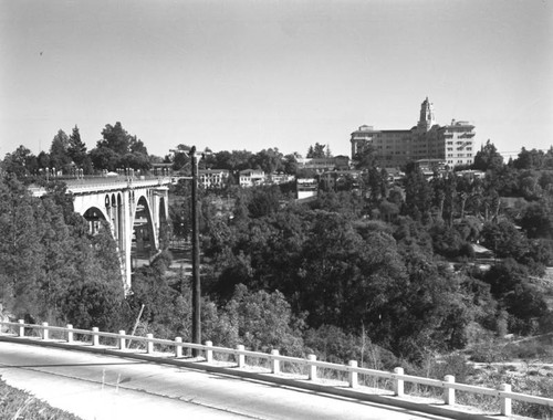
[[[189,153],[192,169],[192,343],[201,344],[201,317],[200,317],[200,241],[198,227],[198,160],[196,146]],[[192,349],[192,356],[199,356],[198,349]]]

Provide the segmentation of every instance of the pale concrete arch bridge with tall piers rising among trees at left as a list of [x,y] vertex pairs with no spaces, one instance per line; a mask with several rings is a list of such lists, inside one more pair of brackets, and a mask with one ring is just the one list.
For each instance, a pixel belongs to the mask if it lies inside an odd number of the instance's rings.
[[[117,244],[125,290],[131,288],[133,248],[150,254],[159,250],[159,229],[168,216],[169,177],[96,177],[60,179],[73,197],[75,212],[88,222],[92,234],[105,220]],[[31,188],[34,197],[46,193]]]

